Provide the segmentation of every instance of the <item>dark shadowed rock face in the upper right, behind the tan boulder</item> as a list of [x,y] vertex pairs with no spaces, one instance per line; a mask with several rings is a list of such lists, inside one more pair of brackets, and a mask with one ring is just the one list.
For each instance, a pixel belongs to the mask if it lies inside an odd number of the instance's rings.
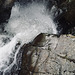
[[75,27],[75,0],[57,0],[54,5],[57,9],[54,21],[58,23],[58,30],[62,28],[62,33],[68,33],[69,29]]

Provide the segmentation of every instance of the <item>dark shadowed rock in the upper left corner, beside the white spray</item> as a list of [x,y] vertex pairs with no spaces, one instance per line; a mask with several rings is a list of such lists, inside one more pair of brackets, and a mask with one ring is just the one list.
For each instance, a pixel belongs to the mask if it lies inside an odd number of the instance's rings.
[[3,31],[3,23],[10,18],[11,9],[15,0],[0,0],[0,32]]

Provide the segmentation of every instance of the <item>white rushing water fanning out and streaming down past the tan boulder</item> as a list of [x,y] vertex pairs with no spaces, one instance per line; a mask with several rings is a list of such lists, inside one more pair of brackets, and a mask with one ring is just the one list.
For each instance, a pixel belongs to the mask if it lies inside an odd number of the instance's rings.
[[[8,35],[0,35],[0,71],[4,75],[16,63],[16,56],[23,44],[33,41],[40,33],[57,34],[56,25],[48,15],[45,5],[41,3],[28,6],[15,4],[5,31]],[[3,38],[10,40],[4,43]],[[16,49],[18,43],[20,44]],[[13,61],[10,62],[10,59]]]

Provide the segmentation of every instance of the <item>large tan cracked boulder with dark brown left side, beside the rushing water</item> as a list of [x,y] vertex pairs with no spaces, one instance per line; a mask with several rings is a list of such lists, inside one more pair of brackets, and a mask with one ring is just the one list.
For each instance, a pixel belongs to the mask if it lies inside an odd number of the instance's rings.
[[22,47],[19,75],[75,75],[75,38],[44,35],[42,46],[28,44]]

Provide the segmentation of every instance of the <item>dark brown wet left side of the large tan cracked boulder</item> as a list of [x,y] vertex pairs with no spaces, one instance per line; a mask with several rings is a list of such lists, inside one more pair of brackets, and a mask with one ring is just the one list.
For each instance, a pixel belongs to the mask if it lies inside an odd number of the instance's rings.
[[31,45],[24,45],[21,50],[23,50],[22,54],[22,64],[21,64],[21,70],[19,72],[19,75],[30,75],[33,71],[32,66],[32,54],[34,52],[34,47]]

